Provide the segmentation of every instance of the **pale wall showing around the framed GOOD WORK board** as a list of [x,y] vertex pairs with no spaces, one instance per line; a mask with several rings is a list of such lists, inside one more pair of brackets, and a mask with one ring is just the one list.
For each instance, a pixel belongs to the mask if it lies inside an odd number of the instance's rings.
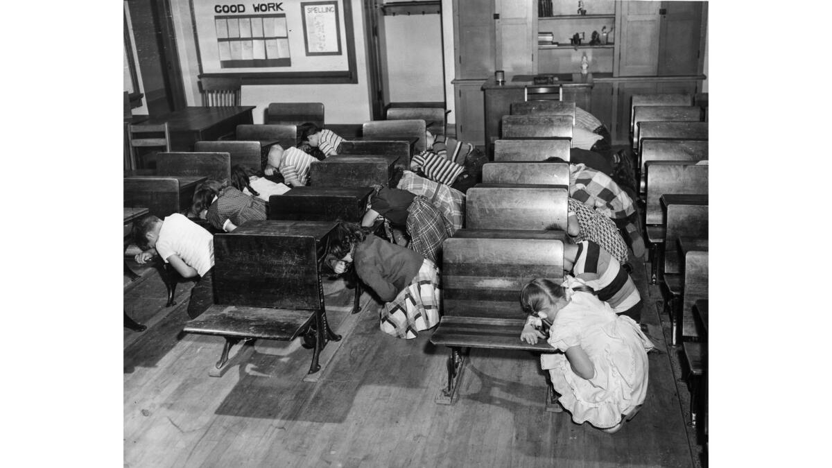
[[[265,109],[269,107],[270,102],[323,102],[327,123],[361,123],[371,119],[361,0],[351,0],[351,7],[355,65],[359,82],[355,84],[244,86],[240,102],[244,106],[256,107],[255,123],[264,122]],[[171,10],[187,103],[189,106],[200,106],[201,97],[197,84],[199,59],[196,54],[196,37],[189,0],[171,0]]]

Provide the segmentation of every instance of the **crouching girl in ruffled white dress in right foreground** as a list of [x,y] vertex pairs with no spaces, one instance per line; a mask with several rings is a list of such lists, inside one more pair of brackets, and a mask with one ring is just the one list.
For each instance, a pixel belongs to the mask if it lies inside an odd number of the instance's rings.
[[[562,285],[537,278],[523,286],[520,303],[529,315],[520,339],[537,338],[562,353],[543,353],[558,401],[572,421],[607,432],[621,429],[647,393],[647,351],[653,344],[628,316],[618,316],[583,281],[566,276]],[[548,336],[540,329],[546,330]]]

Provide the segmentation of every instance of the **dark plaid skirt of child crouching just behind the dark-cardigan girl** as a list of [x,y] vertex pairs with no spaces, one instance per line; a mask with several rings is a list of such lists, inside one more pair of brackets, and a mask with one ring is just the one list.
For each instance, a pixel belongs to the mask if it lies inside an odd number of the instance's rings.
[[414,197],[414,202],[408,207],[408,213],[410,249],[438,264],[439,256],[442,254],[442,242],[453,236],[451,227],[428,199],[420,195]]

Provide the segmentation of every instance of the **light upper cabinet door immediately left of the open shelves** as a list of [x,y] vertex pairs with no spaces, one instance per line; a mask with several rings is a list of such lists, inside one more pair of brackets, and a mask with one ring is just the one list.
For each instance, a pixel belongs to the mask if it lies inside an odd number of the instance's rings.
[[495,0],[499,18],[495,21],[497,39],[497,69],[506,76],[534,73],[533,54],[537,51],[534,22],[537,2]]

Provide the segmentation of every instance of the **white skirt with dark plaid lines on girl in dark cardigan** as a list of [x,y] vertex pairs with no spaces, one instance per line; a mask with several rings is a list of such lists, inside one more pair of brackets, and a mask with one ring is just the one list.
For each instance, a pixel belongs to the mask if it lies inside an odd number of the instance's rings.
[[379,328],[397,338],[415,338],[418,331],[439,323],[441,302],[439,270],[426,258],[413,281],[393,301],[384,303]]

